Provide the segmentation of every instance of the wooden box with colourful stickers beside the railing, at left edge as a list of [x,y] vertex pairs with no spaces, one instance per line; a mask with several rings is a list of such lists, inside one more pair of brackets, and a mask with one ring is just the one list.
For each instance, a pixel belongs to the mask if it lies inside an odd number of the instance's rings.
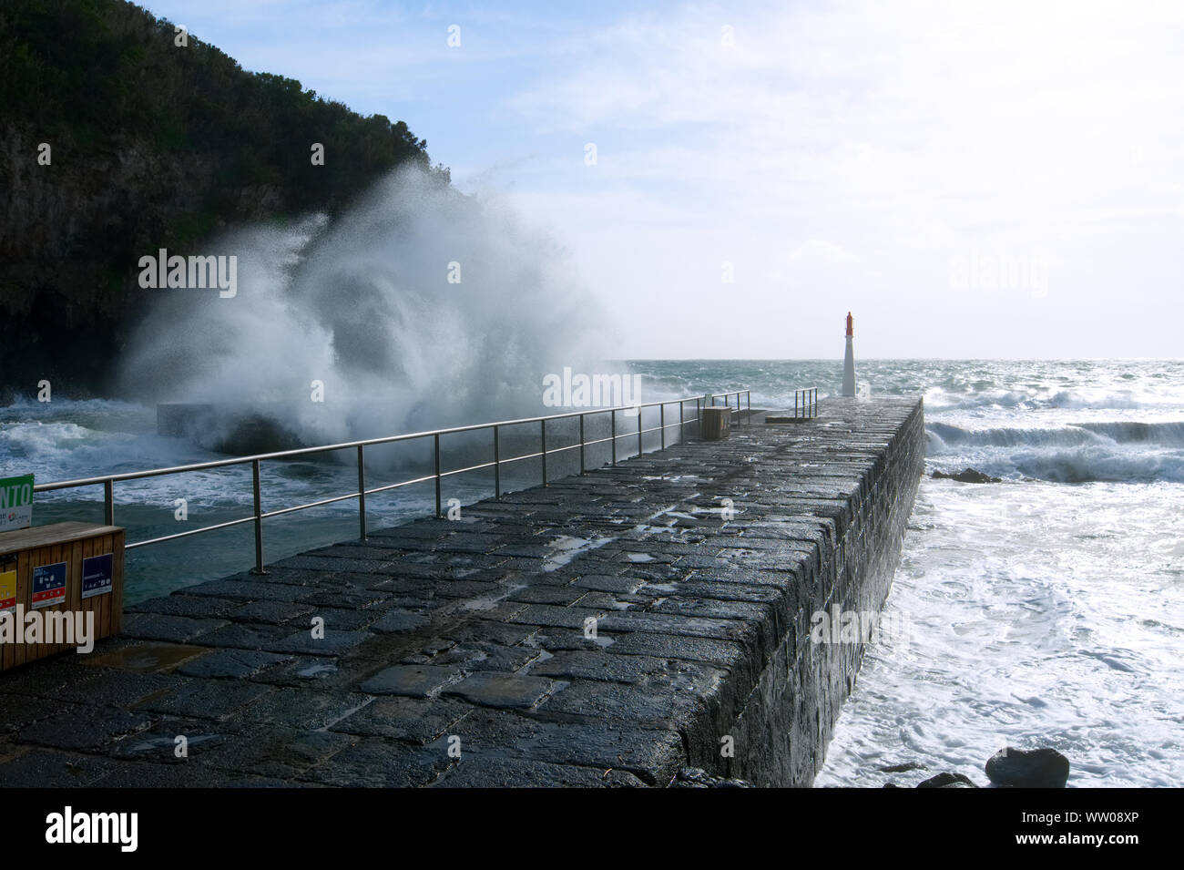
[[[118,634],[123,617],[123,543],[124,530],[117,526],[95,526],[94,523],[64,522],[51,526],[37,526],[31,529],[5,531],[0,534],[0,610],[9,611],[0,617],[11,620],[9,625],[24,638],[24,623],[17,621],[18,613],[27,614],[33,608],[34,573],[41,580],[41,586],[49,587],[39,595],[40,600],[54,601],[36,608],[38,613],[53,611],[71,611],[86,613],[94,611],[94,640]],[[107,560],[110,555],[110,584],[105,580]],[[57,580],[64,565],[65,591],[58,597]],[[83,597],[83,566],[88,569],[89,593]],[[47,568],[38,572],[37,568]],[[11,573],[15,572],[15,584]],[[107,589],[109,586],[108,591]],[[20,611],[17,605],[22,605]],[[85,619],[85,616],[83,617]],[[43,620],[44,621],[44,620]],[[26,644],[0,636],[0,671],[17,668],[38,658],[52,656],[56,652],[75,650],[76,644]]]

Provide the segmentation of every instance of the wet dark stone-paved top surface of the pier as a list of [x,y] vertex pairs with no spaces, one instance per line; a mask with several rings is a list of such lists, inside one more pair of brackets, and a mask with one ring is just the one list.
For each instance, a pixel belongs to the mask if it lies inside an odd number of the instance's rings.
[[0,675],[0,786],[669,785],[838,594],[919,414],[758,415],[137,604]]

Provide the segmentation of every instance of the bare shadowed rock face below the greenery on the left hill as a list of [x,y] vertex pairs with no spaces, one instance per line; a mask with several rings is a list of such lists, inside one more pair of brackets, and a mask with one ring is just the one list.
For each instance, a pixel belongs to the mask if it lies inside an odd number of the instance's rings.
[[176,238],[210,183],[211,161],[178,160],[127,137],[85,155],[59,144],[53,163],[38,166],[37,131],[6,134],[0,388],[26,393],[49,379],[58,394],[101,393],[149,302],[136,260],[157,238]]

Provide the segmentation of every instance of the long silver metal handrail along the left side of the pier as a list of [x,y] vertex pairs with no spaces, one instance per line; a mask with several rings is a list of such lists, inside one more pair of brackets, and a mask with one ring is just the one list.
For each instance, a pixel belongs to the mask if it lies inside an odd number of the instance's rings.
[[[740,397],[745,395],[747,398],[747,418],[752,417],[752,392],[751,391],[736,391],[732,393],[718,393],[709,394],[712,401],[722,398],[725,404],[731,407],[728,399],[735,397],[736,414],[740,413]],[[318,508],[326,504],[333,504],[335,502],[348,501],[350,498],[358,500],[358,518],[359,518],[359,531],[360,539],[366,540],[366,496],[375,495],[378,492],[387,492],[393,489],[399,489],[401,486],[411,486],[417,483],[426,483],[429,481],[436,482],[436,516],[443,516],[440,510],[440,483],[445,477],[451,477],[455,475],[462,475],[470,471],[481,471],[483,469],[494,469],[494,494],[496,498],[502,497],[502,478],[501,470],[502,465],[511,462],[520,462],[522,459],[541,459],[542,462],[542,485],[547,485],[547,457],[555,453],[562,453],[568,450],[580,451],[580,473],[586,473],[585,465],[585,449],[596,444],[604,444],[606,442],[612,443],[612,464],[617,464],[617,442],[622,438],[630,438],[635,433],[617,433],[617,412],[635,412],[637,414],[637,452],[642,455],[643,444],[642,439],[645,433],[649,432],[661,432],[661,446],[659,450],[665,450],[667,439],[665,431],[668,428],[678,428],[680,436],[684,434],[687,419],[684,408],[688,402],[695,402],[695,420],[696,424],[701,424],[702,420],[702,397],[683,398],[683,399],[668,399],[665,401],[651,401],[638,405],[619,405],[616,407],[607,408],[593,408],[590,411],[572,411],[561,414],[549,414],[545,417],[525,417],[515,420],[498,420],[496,423],[478,423],[468,426],[452,426],[449,428],[436,428],[427,430],[424,432],[408,432],[398,436],[386,436],[384,438],[367,438],[355,442],[342,442],[340,444],[326,444],[315,447],[296,447],[294,450],[279,450],[270,453],[256,453],[252,456],[238,456],[229,459],[214,459],[211,462],[202,463],[191,463],[188,465],[173,465],[168,468],[160,469],[148,469],[146,471],[126,471],[116,475],[102,475],[98,477],[82,477],[73,481],[54,481],[52,483],[39,483],[33,486],[34,492],[50,492],[54,490],[63,489],[75,489],[78,486],[97,486],[103,485],[103,520],[108,526],[115,524],[115,484],[121,481],[140,481],[149,477],[163,477],[166,475],[179,475],[191,471],[206,471],[210,469],[227,468],[231,465],[251,465],[251,489],[253,498],[253,510],[250,516],[240,517],[238,520],[230,520],[227,522],[215,523],[213,526],[204,526],[199,529],[187,529],[186,531],[180,531],[172,535],[163,535],[160,537],[153,537],[146,541],[135,541],[127,544],[126,549],[136,549],[139,547],[148,547],[154,543],[163,543],[165,541],[175,541],[181,537],[189,537],[192,535],[199,535],[205,531],[214,531],[217,529],[231,528],[233,526],[242,526],[244,523],[255,523],[255,568],[252,573],[264,574],[263,569],[263,521],[274,516],[282,516],[284,514],[292,514],[298,510],[307,510],[309,508]],[[667,424],[665,423],[665,408],[668,405],[678,406],[678,423]],[[659,425],[652,426],[650,428],[642,427],[642,410],[657,407],[659,410]],[[594,414],[611,414],[611,433],[607,438],[597,438],[587,440],[584,437],[584,419]],[[580,440],[579,444],[570,444],[561,447],[547,447],[547,423],[549,420],[566,420],[579,418],[580,421]],[[534,453],[525,453],[522,456],[502,457],[501,456],[501,430],[506,426],[517,426],[529,423],[539,424],[539,439],[540,450]],[[491,428],[494,431],[494,459],[493,462],[478,463],[477,465],[469,465],[461,469],[451,469],[449,471],[440,471],[440,436],[457,434],[462,432],[478,432],[483,430]],[[394,444],[398,442],[410,442],[419,438],[432,438],[433,442],[433,471],[430,475],[424,475],[420,477],[414,477],[408,481],[400,481],[398,483],[391,483],[382,486],[374,486],[371,489],[366,488],[366,456],[365,449],[368,446],[374,446],[379,444]],[[281,508],[278,510],[264,511],[262,504],[262,486],[259,482],[259,464],[272,459],[291,459],[294,457],[311,456],[314,453],[327,453],[335,450],[356,450],[358,451],[358,491],[348,492],[341,496],[332,496],[328,498],[322,498],[315,502],[309,502],[307,504],[296,504],[289,508]]]

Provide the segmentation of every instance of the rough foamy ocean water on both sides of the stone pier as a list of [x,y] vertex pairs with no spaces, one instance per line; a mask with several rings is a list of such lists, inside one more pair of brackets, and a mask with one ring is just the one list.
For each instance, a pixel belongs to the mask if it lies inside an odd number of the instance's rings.
[[[927,471],[973,468],[1002,482],[922,481],[887,604],[909,631],[869,647],[816,785],[914,785],[940,771],[985,784],[983,763],[1008,745],[1058,749],[1072,786],[1179,785],[1184,361],[857,366],[873,394],[925,397]],[[806,386],[825,402],[842,374],[837,360],[630,369],[642,375],[643,402],[751,389],[762,408],[792,406],[793,389]],[[56,398],[0,408],[4,476],[33,472],[44,483],[214,458],[156,434],[150,406]],[[515,473],[507,488],[536,482]],[[450,481],[448,496],[491,494],[487,478],[470,477]],[[384,482],[371,476],[367,485]],[[347,492],[356,470],[348,460],[272,463],[263,484],[271,510]],[[121,483],[116,522],[129,541],[144,540],[243,516],[251,498],[247,466]],[[395,524],[431,511],[435,492],[398,490],[367,507],[371,528]],[[38,495],[34,523],[64,518],[101,521],[102,488]],[[356,537],[356,505],[264,528],[274,561]],[[244,571],[252,544],[244,526],[129,553],[126,601]],[[881,771],[906,763],[925,769]]]

